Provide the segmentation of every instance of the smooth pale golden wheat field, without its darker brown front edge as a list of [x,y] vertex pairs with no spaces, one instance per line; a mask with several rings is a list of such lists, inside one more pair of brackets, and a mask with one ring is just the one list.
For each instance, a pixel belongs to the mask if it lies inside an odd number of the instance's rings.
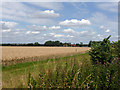
[[64,55],[69,53],[80,53],[89,50],[89,47],[17,47],[3,46],[2,60],[11,60],[16,58]]

